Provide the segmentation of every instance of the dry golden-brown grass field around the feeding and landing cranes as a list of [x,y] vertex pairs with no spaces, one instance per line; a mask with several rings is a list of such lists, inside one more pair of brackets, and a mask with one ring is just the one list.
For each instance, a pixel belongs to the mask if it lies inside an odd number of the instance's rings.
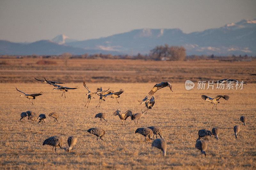
[[[16,59],[17,60],[17,59]],[[84,104],[87,101],[85,94],[87,90],[83,87],[83,81],[87,80],[87,74],[82,69],[83,63],[74,69],[65,70],[68,87],[79,85],[79,89],[69,90],[66,92],[66,99],[61,97],[60,91],[52,90],[52,86],[43,84],[33,80],[34,77],[42,79],[49,77],[58,81],[65,81],[65,76],[57,78],[61,73],[58,64],[55,66],[37,66],[28,68],[20,64],[17,66],[15,59],[7,61],[8,64],[0,65],[1,82],[0,83],[0,168],[1,169],[255,169],[256,168],[256,118],[255,118],[255,95],[256,95],[256,77],[246,74],[247,71],[256,71],[255,62],[233,63],[235,65],[231,69],[232,63],[207,63],[199,61],[198,63],[189,62],[149,62],[149,65],[155,66],[153,70],[143,73],[142,70],[146,61],[127,61],[129,68],[126,75],[127,80],[120,79],[110,83],[108,79],[102,78],[102,81],[95,82],[88,80],[86,85],[90,90],[96,91],[97,87],[102,86],[103,89],[110,88],[118,91],[124,89],[124,93],[120,95],[118,101],[116,99],[107,98],[102,101],[100,108],[95,108],[99,102],[99,96],[95,95],[89,108],[86,109]],[[18,60],[23,61],[23,60]],[[76,60],[74,60],[76,61]],[[103,60],[88,60],[96,64]],[[88,62],[87,61],[87,62]],[[122,60],[113,61],[113,65],[118,62],[124,63]],[[12,63],[13,62],[13,63]],[[26,61],[29,63],[32,61]],[[33,61],[34,62],[34,61]],[[77,61],[76,61],[77,62]],[[34,62],[35,63],[35,62]],[[114,64],[115,63],[115,64]],[[168,67],[169,64],[169,67]],[[61,65],[61,64],[60,64]],[[71,64],[70,64],[71,65]],[[106,65],[102,64],[107,69]],[[207,67],[220,71],[214,75],[211,71],[202,73]],[[102,66],[102,67],[103,67]],[[124,66],[124,65],[123,65]],[[161,73],[164,70],[166,73]],[[38,68],[37,68],[38,67]],[[49,67],[49,68],[48,68]],[[70,66],[71,67],[71,66]],[[149,67],[145,66],[147,69]],[[86,67],[89,68],[89,67]],[[121,68],[121,66],[118,66]],[[132,72],[132,68],[136,71]],[[180,70],[175,71],[176,68]],[[186,69],[187,68],[187,69]],[[54,70],[56,69],[56,71]],[[79,69],[81,69],[79,71]],[[93,68],[94,69],[94,68]],[[91,68],[90,75],[94,73],[98,76],[104,70]],[[15,72],[14,70],[19,70]],[[21,71],[23,70],[23,71]],[[41,71],[40,71],[41,70]],[[49,70],[49,71],[47,71]],[[115,70],[111,78],[121,78],[126,71]],[[157,71],[156,71],[157,70]],[[173,70],[172,72],[169,72]],[[211,70],[211,69],[210,69]],[[70,73],[69,73],[70,71]],[[184,72],[182,72],[184,71]],[[193,72],[194,71],[194,72]],[[197,72],[198,71],[198,72]],[[58,74],[55,75],[54,73]],[[151,73],[151,74],[150,74]],[[150,83],[140,83],[144,78],[144,74],[153,75],[152,79],[148,79]],[[197,75],[198,74],[198,75]],[[24,76],[23,76],[24,75]],[[135,125],[130,117],[126,121],[126,126],[121,124],[118,116],[114,116],[113,112],[120,108],[122,112],[130,109],[134,113],[139,113],[141,108],[145,109],[145,105],[139,105],[137,100],[142,100],[150,89],[158,82],[169,80],[173,85],[173,92],[168,87],[160,89],[154,94],[155,105],[148,111],[143,118],[139,120],[139,124]],[[221,76],[222,75],[222,76]],[[102,75],[101,75],[102,76]],[[113,77],[112,77],[113,76]],[[156,80],[154,77],[158,76]],[[174,80],[172,81],[172,76]],[[5,78],[7,77],[7,78]],[[77,81],[73,78],[80,77]],[[90,76],[89,76],[90,77]],[[237,78],[244,80],[248,85],[244,85],[240,90],[197,90],[196,87],[187,91],[185,89],[185,80],[198,81],[204,78],[218,80],[219,78]],[[23,81],[23,78],[25,79]],[[129,79],[138,79],[137,83],[131,83]],[[197,79],[198,78],[198,79]],[[4,79],[4,81],[2,81]],[[28,80],[29,79],[29,80]],[[90,79],[90,78],[88,78]],[[182,80],[181,80],[182,79]],[[6,81],[5,81],[6,80]],[[9,80],[9,81],[8,81]],[[28,82],[26,81],[28,80]],[[104,81],[105,80],[105,81]],[[73,82],[72,82],[73,81]],[[5,83],[3,83],[5,82]],[[66,82],[66,81],[65,81]],[[37,93],[43,91],[44,94],[31,100],[20,97],[20,92],[15,87],[27,93]],[[213,109],[213,104],[204,101],[202,94],[214,97],[218,94],[229,95],[228,101],[220,99],[217,106],[218,110]],[[46,123],[34,124],[25,118],[20,122],[20,113],[24,111],[34,111],[39,114],[47,115]],[[58,112],[60,121],[53,122],[53,118],[49,118],[50,112]],[[100,122],[99,118],[94,118],[97,113],[104,112],[107,115],[108,122],[104,120]],[[240,122],[240,116],[247,117],[247,124],[243,126]],[[233,127],[239,124],[241,131],[238,138],[235,138]],[[139,127],[160,126],[164,130],[164,137],[167,141],[167,154],[163,157],[160,150],[152,148],[152,140],[145,142],[145,137],[135,134],[135,130]],[[96,136],[89,134],[87,129],[99,127],[105,129],[106,141],[96,140]],[[201,154],[195,148],[196,139],[198,138],[198,130],[211,130],[213,127],[220,129],[219,140],[214,137],[208,137],[208,148],[206,150],[207,157]],[[65,146],[69,136],[77,137],[77,144],[72,152],[65,152],[57,148],[57,152],[52,153],[52,147],[42,145],[44,140],[52,136],[63,136]]]

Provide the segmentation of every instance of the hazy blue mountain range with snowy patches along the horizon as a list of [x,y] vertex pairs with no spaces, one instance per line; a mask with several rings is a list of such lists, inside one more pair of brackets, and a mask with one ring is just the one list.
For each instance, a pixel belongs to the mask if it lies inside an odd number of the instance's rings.
[[65,35],[33,43],[0,40],[1,55],[149,54],[157,45],[183,46],[187,55],[256,55],[256,19],[219,28],[183,33],[180,29],[137,29],[112,36],[77,41]]

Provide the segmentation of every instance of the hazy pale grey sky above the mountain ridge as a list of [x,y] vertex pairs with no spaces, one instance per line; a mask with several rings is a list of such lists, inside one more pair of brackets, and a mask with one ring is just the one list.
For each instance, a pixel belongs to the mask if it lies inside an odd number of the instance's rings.
[[0,40],[77,40],[141,28],[203,31],[256,18],[255,0],[0,0]]

